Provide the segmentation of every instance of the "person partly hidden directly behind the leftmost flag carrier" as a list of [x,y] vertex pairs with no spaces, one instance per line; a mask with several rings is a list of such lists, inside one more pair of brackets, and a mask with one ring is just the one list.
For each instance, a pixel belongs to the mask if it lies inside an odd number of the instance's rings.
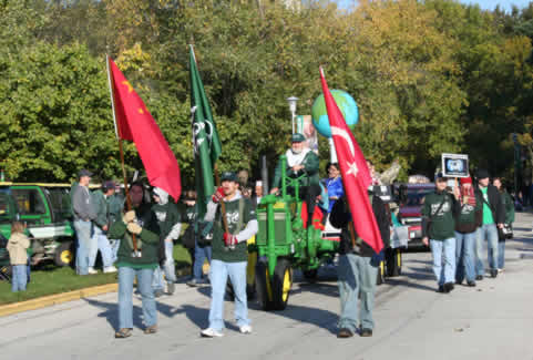
[[155,269],[154,275],[154,291],[155,297],[163,295],[163,271],[165,272],[166,289],[170,295],[174,294],[176,281],[176,268],[174,265],[174,241],[180,237],[182,229],[182,216],[177,210],[175,203],[168,198],[166,193],[161,187],[154,187],[153,198],[155,205],[152,210],[157,217],[157,224],[160,225],[161,240],[164,244],[160,246],[164,249],[164,256],[160,258],[160,266]]

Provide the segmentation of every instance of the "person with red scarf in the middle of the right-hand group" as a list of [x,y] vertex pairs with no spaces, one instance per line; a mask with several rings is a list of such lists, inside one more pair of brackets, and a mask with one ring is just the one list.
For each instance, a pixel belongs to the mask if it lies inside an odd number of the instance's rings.
[[475,199],[472,178],[461,178],[460,212],[455,216],[455,284],[467,278],[467,285],[475,286],[474,246],[475,232],[481,226],[482,204]]

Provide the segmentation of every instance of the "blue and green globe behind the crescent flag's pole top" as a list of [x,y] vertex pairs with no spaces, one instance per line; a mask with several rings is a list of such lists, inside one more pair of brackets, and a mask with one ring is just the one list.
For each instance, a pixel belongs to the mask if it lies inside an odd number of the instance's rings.
[[[352,128],[359,121],[359,110],[353,97],[346,91],[331,90],[331,95],[339,106],[342,116],[345,117],[348,127]],[[320,94],[312,104],[311,109],[312,124],[320,133],[326,137],[331,137],[331,128],[329,127],[328,111],[326,110],[326,102],[324,101],[324,94]]]

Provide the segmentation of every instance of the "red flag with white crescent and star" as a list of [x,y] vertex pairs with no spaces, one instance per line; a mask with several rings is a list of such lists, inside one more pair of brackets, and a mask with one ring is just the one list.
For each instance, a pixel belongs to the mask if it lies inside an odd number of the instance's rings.
[[372,205],[368,198],[368,186],[372,183],[365,155],[359,144],[342,117],[334,96],[329,92],[328,83],[320,68],[320,80],[322,82],[324,99],[328,111],[329,126],[337,151],[337,158],[342,176],[342,184],[350,206],[351,217],[356,233],[376,253],[383,248],[383,240],[379,233]]

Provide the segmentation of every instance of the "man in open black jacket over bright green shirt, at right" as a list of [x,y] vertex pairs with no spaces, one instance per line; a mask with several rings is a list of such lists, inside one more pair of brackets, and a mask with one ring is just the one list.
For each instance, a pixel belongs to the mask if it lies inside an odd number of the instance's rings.
[[476,235],[476,280],[482,280],[485,275],[484,265],[482,260],[483,241],[488,245],[488,259],[491,277],[498,276],[498,229],[503,228],[505,222],[505,205],[502,202],[502,196],[494,185],[490,184],[489,172],[480,168],[476,173],[478,187],[475,188],[475,196],[483,205],[483,219],[481,226],[478,228]]

